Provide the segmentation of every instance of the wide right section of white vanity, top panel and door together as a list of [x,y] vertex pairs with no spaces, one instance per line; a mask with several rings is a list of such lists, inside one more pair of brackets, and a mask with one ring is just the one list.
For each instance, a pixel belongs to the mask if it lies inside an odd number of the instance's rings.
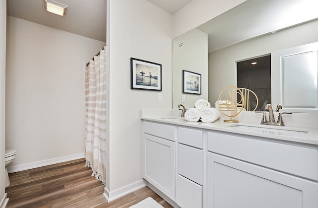
[[207,207],[318,207],[318,149],[216,132],[207,142]]

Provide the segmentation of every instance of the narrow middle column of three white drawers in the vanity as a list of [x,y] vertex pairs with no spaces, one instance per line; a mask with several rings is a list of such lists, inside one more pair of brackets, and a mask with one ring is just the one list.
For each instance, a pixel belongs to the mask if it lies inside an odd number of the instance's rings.
[[203,131],[178,127],[176,202],[202,208]]

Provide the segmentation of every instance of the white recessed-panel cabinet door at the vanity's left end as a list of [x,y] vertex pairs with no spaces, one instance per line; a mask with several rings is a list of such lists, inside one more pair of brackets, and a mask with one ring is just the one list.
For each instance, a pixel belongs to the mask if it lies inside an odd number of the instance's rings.
[[175,142],[148,134],[144,137],[144,178],[175,200]]

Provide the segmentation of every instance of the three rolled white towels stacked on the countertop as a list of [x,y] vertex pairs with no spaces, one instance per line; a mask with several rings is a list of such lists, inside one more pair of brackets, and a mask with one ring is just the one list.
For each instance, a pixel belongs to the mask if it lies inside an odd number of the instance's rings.
[[220,118],[220,112],[216,108],[211,108],[211,104],[204,100],[199,99],[195,102],[195,107],[188,109],[184,118],[187,121],[204,123],[212,123]]

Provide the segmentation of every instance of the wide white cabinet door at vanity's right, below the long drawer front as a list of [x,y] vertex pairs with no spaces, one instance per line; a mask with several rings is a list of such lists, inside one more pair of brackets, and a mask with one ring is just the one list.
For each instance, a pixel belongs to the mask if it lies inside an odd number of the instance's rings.
[[209,208],[317,208],[318,183],[208,153]]

